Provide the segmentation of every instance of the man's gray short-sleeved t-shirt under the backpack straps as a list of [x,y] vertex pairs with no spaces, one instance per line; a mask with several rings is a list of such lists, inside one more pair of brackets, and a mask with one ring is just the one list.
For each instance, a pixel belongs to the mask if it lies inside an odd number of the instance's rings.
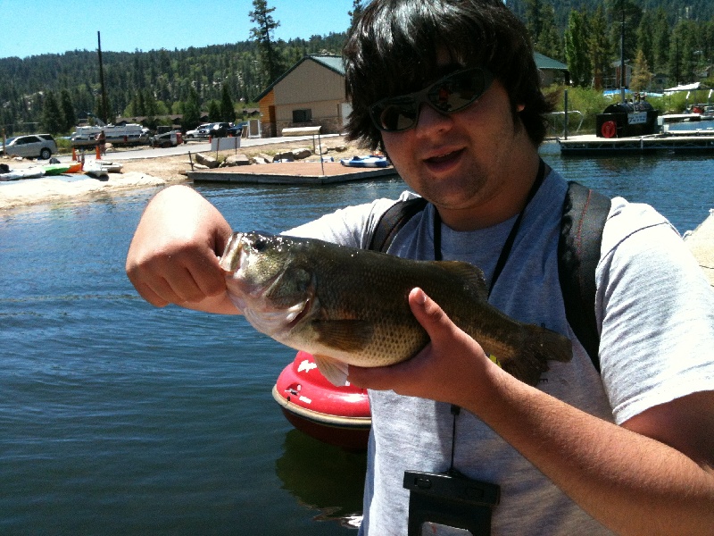
[[[575,339],[558,278],[560,215],[567,183],[551,172],[523,216],[490,302],[512,317],[573,339],[573,359],[550,363],[539,389],[613,423],[686,394],[714,389],[714,293],[677,231],[652,207],[615,198],[596,271],[602,379]],[[409,197],[405,193],[403,197]],[[380,199],[329,214],[286,234],[367,247]],[[433,259],[432,205],[400,230],[394,255]],[[479,266],[491,281],[515,218],[468,232],[442,229],[444,260]],[[450,406],[392,391],[370,391],[369,438],[361,534],[406,534],[404,471],[440,473],[452,451]],[[454,466],[501,486],[492,534],[609,534],[559,488],[469,412],[456,420]]]

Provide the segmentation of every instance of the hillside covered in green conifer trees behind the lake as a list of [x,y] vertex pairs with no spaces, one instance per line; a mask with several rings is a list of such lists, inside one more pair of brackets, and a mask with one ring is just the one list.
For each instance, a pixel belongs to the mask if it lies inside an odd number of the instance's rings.
[[[361,9],[354,2],[354,10]],[[573,84],[612,87],[612,63],[620,57],[625,29],[628,63],[638,89],[675,85],[712,76],[714,2],[711,0],[507,0],[527,24],[539,52],[568,63]],[[108,119],[148,117],[148,126],[166,114],[198,111],[225,120],[236,118],[278,74],[304,54],[340,54],[345,33],[274,41],[270,8],[253,1],[254,40],[235,44],[115,53],[104,52]],[[262,13],[257,13],[259,8]],[[278,13],[276,19],[279,20]],[[352,12],[351,12],[352,14]],[[262,16],[259,16],[262,15]],[[28,58],[0,59],[0,126],[19,131],[71,131],[88,114],[102,116],[97,53],[70,51]],[[272,73],[272,74],[270,74]],[[656,77],[652,75],[656,74]],[[227,104],[228,103],[228,104]],[[226,109],[228,108],[228,112]],[[189,119],[190,118],[190,119]],[[234,118],[230,118],[231,120]]]

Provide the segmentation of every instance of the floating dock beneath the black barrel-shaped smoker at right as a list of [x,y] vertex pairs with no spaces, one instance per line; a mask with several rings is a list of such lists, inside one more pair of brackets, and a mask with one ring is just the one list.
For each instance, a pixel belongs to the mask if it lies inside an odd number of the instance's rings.
[[714,132],[679,130],[628,138],[600,138],[582,134],[558,138],[561,155],[619,155],[673,153],[711,153],[714,155]]

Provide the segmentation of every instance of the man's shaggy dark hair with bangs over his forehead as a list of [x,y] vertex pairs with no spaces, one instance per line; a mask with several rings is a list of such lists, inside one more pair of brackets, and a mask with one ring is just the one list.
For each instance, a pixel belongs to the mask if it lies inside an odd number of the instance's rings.
[[[506,88],[514,120],[539,146],[545,114],[540,72],[523,24],[502,0],[375,0],[347,39],[345,88],[353,112],[348,138],[376,149],[382,137],[369,105],[386,96],[419,90],[439,78],[436,54],[446,49],[463,67],[486,67]],[[517,111],[517,105],[526,107]],[[518,121],[516,121],[518,125]]]

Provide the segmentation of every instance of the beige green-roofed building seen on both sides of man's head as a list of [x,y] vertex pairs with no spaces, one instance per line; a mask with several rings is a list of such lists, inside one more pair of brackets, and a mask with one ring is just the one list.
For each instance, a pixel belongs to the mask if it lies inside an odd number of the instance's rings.
[[[568,80],[568,66],[535,54],[544,85]],[[256,99],[261,109],[263,137],[281,136],[283,129],[320,126],[322,134],[343,130],[352,106],[345,98],[345,63],[336,55],[303,57]]]

